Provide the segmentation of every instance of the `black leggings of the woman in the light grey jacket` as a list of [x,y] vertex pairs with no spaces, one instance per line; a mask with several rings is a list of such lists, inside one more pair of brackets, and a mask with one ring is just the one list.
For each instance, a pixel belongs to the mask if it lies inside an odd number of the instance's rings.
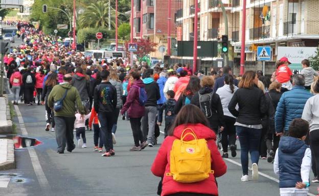
[[223,119],[225,127],[224,130],[221,131],[221,145],[223,152],[226,153],[228,145],[235,145],[236,143],[236,129],[234,126],[236,119],[229,116],[224,116]]

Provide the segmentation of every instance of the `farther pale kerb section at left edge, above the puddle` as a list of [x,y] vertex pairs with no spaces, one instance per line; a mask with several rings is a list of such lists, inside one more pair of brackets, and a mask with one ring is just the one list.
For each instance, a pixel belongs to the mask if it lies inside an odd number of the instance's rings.
[[[3,103],[3,101],[5,103]],[[1,134],[12,134],[12,121],[10,116],[10,106],[8,96],[0,97],[0,133]]]

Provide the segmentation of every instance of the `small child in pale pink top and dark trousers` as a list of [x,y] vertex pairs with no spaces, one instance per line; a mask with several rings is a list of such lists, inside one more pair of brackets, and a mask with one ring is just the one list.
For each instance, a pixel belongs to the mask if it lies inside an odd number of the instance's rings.
[[[76,130],[76,139],[78,141],[78,147],[79,148],[86,148],[86,137],[85,137],[85,120],[90,118],[91,113],[88,115],[82,115],[80,113],[75,114],[75,122],[74,122],[74,128]],[[82,139],[80,139],[80,135],[82,136]]]

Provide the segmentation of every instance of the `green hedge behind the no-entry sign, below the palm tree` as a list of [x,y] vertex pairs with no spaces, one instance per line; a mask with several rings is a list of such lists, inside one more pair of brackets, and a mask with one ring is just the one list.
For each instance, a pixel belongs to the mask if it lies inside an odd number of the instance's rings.
[[103,34],[103,38],[100,41],[105,41],[107,39],[115,38],[115,31],[108,31],[105,28],[100,27],[99,29],[86,27],[84,29],[80,29],[77,34],[78,43],[83,43],[84,41],[96,40],[96,33],[101,32]]

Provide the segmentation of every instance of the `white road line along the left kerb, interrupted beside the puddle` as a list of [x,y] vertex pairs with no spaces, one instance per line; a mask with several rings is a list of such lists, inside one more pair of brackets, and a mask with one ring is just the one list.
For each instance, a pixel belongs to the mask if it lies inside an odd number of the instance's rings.
[[[18,117],[18,121],[19,121],[20,130],[22,132],[22,135],[27,136],[28,132],[27,132],[24,120],[22,118],[22,115],[20,113],[19,107],[17,105],[14,105],[14,108],[15,108],[15,111],[16,111],[16,114]],[[47,189],[49,187],[49,182],[48,182],[48,179],[44,175],[39,158],[38,158],[34,148],[28,148],[28,151],[29,151],[29,155],[31,158],[33,170],[34,170],[34,173],[38,179],[38,182],[39,182],[42,189]]]

